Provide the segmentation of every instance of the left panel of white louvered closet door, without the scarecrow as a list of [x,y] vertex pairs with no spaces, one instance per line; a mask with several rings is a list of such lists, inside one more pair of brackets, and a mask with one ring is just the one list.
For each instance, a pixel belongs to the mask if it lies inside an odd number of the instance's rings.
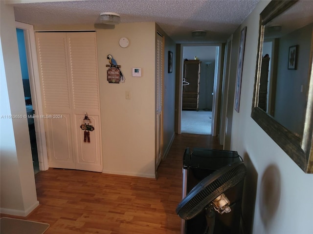
[[66,33],[36,33],[49,167],[75,169]]

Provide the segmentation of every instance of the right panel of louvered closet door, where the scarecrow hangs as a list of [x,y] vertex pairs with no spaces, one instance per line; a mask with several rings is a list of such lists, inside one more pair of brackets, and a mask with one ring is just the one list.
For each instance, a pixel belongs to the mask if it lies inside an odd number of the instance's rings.
[[[71,68],[76,169],[102,172],[96,33],[67,33],[67,45]],[[90,143],[84,142],[84,131],[80,129],[85,113],[95,129],[89,132]]]

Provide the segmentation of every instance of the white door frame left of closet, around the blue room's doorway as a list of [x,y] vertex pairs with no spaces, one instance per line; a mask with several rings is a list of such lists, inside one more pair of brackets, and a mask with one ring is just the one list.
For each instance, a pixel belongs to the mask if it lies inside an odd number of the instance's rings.
[[33,109],[35,110],[35,116],[37,116],[37,118],[34,118],[34,124],[37,141],[39,170],[46,171],[49,169],[49,165],[45,139],[45,123],[44,118],[40,118],[40,116],[44,115],[44,110],[41,96],[34,27],[33,25],[17,21],[15,22],[15,25],[16,28],[24,30],[30,93],[32,97]]

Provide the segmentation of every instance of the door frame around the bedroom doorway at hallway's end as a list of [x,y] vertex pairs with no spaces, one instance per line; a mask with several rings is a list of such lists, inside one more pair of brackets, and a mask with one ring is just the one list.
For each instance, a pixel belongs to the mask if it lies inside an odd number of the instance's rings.
[[[183,49],[185,46],[216,46],[218,49],[215,55],[215,72],[214,72],[214,87],[213,87],[213,106],[212,106],[212,136],[217,135],[217,120],[218,120],[218,103],[220,94],[220,76],[222,62],[222,43],[199,43],[199,44],[181,44],[180,59],[179,59],[179,84],[182,84],[183,74]],[[179,85],[179,100],[178,100],[178,134],[181,134],[181,108],[182,108],[182,85]]]

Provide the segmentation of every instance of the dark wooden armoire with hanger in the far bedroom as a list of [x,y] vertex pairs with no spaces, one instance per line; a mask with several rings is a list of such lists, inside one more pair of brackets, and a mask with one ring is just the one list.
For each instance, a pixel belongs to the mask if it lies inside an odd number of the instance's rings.
[[200,60],[184,61],[182,79],[182,109],[198,111]]

